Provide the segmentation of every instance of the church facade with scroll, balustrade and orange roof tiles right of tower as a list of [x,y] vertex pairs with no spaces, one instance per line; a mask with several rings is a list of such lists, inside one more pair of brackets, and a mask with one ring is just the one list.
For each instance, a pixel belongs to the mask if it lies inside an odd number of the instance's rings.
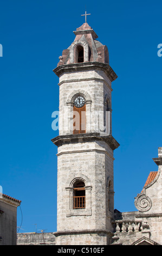
[[162,148],[153,158],[158,170],[150,172],[135,197],[136,212],[114,212],[114,245],[162,245]]

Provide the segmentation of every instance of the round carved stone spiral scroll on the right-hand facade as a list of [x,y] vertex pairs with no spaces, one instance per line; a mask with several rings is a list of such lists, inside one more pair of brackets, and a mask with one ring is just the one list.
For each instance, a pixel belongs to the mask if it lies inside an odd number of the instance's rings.
[[150,197],[147,197],[144,193],[140,193],[135,198],[134,205],[139,211],[144,212],[151,209],[152,202]]

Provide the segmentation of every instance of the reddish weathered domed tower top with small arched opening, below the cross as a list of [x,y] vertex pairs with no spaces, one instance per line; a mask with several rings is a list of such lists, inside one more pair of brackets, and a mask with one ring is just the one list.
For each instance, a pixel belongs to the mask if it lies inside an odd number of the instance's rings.
[[74,34],[74,42],[66,50],[63,50],[57,66],[84,62],[109,64],[107,46],[96,40],[98,35],[88,23],[83,23],[74,31]]

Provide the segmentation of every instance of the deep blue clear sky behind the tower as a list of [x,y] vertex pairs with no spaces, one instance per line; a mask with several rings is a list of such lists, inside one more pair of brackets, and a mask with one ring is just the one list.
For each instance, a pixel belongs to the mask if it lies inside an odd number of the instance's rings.
[[[136,211],[152,157],[162,147],[161,1],[1,0],[0,109],[3,193],[22,200],[20,232],[56,231],[58,135],[51,129],[59,110],[59,78],[53,69],[73,31],[85,22],[109,50],[118,75],[112,83],[114,202],[119,211]],[[21,224],[17,209],[17,225]]]

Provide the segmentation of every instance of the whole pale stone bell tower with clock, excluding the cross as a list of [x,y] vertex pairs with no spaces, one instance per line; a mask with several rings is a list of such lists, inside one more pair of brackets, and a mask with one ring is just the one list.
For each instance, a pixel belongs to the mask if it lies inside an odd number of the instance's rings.
[[56,245],[108,245],[113,235],[112,82],[108,49],[88,23],[74,31],[59,77]]

